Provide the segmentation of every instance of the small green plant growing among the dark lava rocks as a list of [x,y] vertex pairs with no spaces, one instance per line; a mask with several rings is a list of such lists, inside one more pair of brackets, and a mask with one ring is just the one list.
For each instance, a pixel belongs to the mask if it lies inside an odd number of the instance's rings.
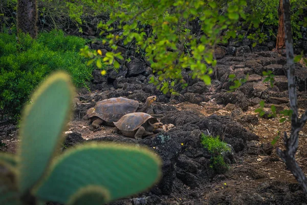
[[230,151],[228,145],[220,140],[220,136],[209,136],[202,134],[202,145],[212,155],[210,168],[217,173],[224,173],[228,170],[228,165],[224,161],[224,152]]

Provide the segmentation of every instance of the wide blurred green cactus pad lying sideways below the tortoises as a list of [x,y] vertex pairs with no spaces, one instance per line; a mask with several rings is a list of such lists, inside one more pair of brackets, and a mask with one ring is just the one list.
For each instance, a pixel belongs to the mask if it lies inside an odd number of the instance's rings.
[[96,185],[108,191],[108,200],[115,200],[145,191],[160,176],[161,159],[149,149],[86,144],[55,160],[33,194],[46,201],[67,203],[80,189]]

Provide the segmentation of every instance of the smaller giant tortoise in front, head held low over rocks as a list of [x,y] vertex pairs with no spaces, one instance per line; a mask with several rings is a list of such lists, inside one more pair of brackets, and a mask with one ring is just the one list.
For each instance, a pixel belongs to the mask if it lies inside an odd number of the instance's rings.
[[163,123],[159,122],[156,117],[144,112],[129,113],[117,122],[114,122],[116,128],[113,132],[120,132],[126,137],[134,137],[137,140],[142,136],[152,135],[162,132]]

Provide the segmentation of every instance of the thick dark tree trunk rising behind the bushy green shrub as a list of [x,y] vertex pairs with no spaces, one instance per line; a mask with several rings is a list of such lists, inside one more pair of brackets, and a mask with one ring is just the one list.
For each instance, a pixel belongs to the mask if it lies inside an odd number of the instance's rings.
[[18,0],[17,32],[29,33],[32,38],[37,35],[36,0]]

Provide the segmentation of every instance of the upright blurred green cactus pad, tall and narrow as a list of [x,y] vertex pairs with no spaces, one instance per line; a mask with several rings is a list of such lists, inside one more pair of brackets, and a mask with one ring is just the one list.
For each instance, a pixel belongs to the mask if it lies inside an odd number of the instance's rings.
[[41,178],[59,148],[60,136],[69,120],[73,93],[69,75],[57,72],[39,86],[32,96],[33,104],[26,107],[18,150],[21,193]]

